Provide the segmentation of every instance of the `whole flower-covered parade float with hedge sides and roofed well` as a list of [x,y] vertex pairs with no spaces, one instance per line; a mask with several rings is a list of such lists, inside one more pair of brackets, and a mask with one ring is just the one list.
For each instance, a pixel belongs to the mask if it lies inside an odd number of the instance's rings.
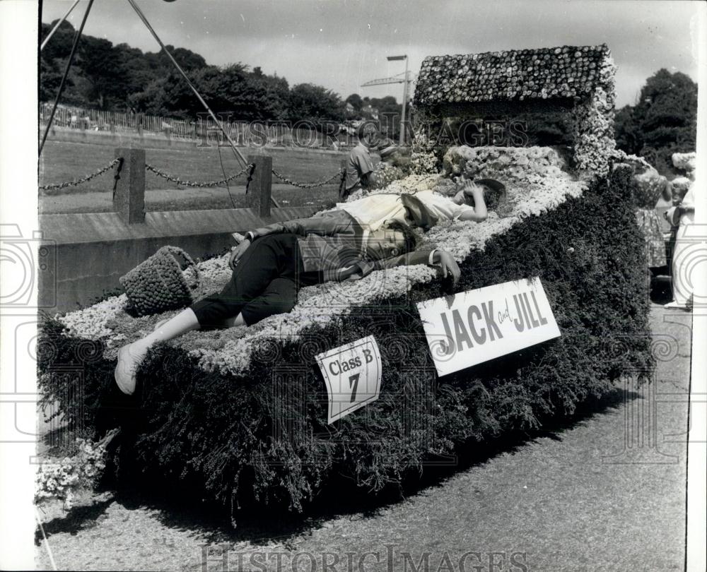
[[[459,264],[453,289],[424,265],[304,287],[287,314],[156,345],[131,397],[115,387],[117,350],[178,310],[136,316],[125,294],[106,297],[45,318],[44,403],[82,437],[121,429],[107,460],[118,480],[183,486],[231,509],[270,502],[302,511],[334,478],[369,491],[398,487],[462,446],[539,429],[606,395],[652,363],[633,169],[614,150],[613,73],[605,46],[425,59],[413,172],[397,169],[402,178],[375,192],[448,193],[459,179],[484,177],[506,185],[484,222],[439,222],[423,235]],[[573,157],[431,136],[431,124],[474,117],[479,105],[566,110]],[[194,299],[230,278],[228,256],[198,267]],[[416,304],[533,277],[559,337],[439,376]],[[380,351],[378,400],[329,423],[316,357],[368,336]]]

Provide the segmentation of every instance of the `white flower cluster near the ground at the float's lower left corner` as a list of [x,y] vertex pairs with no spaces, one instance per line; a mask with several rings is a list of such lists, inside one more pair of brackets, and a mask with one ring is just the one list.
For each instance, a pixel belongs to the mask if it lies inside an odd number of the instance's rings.
[[50,459],[37,469],[35,504],[59,499],[68,510],[78,489],[95,487],[105,469],[105,447],[86,439],[78,439],[76,444],[78,452],[73,457]]

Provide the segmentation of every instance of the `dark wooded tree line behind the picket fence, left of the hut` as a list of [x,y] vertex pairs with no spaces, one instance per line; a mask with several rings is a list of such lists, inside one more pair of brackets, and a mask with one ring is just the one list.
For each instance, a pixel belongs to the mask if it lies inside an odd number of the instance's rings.
[[[54,27],[42,24],[42,40]],[[59,89],[76,30],[64,21],[40,54],[40,101],[53,101]],[[357,94],[347,111],[339,94],[321,85],[290,86],[285,78],[250,69],[243,63],[211,66],[199,54],[168,46],[199,93],[216,113],[238,121],[344,121],[366,118],[372,111],[397,111],[395,97],[361,99]],[[204,112],[184,79],[163,52],[142,52],[128,44],[112,44],[82,35],[61,102],[104,111],[136,112],[195,119]]]

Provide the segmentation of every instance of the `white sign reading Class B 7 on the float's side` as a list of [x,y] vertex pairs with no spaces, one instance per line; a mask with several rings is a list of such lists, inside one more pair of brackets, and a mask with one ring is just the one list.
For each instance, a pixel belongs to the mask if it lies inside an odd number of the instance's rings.
[[382,366],[372,335],[315,357],[327,383],[329,415],[333,423],[378,399]]

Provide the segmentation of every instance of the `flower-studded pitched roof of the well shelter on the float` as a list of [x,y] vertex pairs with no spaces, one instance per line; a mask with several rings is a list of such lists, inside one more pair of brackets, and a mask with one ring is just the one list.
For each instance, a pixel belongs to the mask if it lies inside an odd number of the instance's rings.
[[587,97],[597,87],[606,87],[606,74],[600,71],[610,55],[609,47],[601,44],[427,56],[414,103],[433,106]]

